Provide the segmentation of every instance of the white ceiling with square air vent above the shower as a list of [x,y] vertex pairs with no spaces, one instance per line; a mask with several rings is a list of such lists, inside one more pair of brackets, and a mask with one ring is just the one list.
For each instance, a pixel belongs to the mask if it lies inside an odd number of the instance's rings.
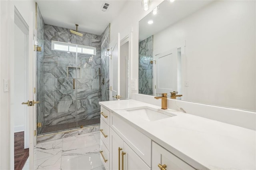
[[[45,24],[101,35],[127,0],[36,0]],[[102,4],[110,4],[106,12]]]

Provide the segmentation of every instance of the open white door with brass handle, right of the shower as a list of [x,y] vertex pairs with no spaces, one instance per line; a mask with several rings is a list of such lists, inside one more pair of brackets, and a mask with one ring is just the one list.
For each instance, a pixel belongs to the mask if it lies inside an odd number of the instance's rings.
[[[110,100],[120,99],[120,33],[118,33],[117,42],[111,47],[111,82]],[[111,88],[111,87],[110,87]]]

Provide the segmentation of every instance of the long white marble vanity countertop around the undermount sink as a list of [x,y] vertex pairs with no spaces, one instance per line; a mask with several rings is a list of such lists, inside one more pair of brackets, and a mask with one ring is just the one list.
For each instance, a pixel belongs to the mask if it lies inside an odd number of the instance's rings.
[[[160,107],[135,100],[104,101],[137,130],[196,169],[256,170],[256,131],[174,110],[158,121],[129,117],[129,108]],[[163,111],[163,110],[162,110]]]

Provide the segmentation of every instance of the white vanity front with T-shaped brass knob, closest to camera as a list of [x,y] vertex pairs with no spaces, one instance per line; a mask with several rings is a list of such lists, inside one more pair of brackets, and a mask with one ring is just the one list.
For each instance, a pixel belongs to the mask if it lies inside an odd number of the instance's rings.
[[162,146],[152,142],[152,170],[160,170],[161,166],[166,170],[195,170]]

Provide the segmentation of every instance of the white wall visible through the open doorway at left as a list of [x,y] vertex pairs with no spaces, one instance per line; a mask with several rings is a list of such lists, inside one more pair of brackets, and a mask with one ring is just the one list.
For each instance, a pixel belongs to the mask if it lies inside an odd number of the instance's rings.
[[11,112],[14,116],[14,132],[24,131],[25,107],[25,34],[14,24],[14,101]]

